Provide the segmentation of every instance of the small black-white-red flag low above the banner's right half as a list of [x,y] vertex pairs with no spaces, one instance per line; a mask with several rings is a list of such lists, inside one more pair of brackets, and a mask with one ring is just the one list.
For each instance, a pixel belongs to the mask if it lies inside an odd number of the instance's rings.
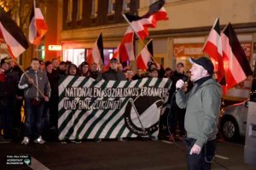
[[148,42],[147,46],[143,48],[140,54],[137,56],[137,68],[144,71],[148,69],[148,62],[152,61],[151,56],[153,56],[153,43]]

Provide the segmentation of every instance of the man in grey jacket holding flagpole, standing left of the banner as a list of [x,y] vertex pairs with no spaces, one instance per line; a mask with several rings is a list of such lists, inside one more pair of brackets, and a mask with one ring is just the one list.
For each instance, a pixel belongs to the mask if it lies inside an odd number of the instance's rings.
[[44,103],[49,102],[50,86],[46,74],[39,71],[39,65],[38,59],[32,59],[32,68],[23,73],[20,78],[19,88],[25,90],[26,114],[24,139],[21,144],[29,144],[32,138],[35,139],[35,143],[45,143],[41,136],[42,120]]

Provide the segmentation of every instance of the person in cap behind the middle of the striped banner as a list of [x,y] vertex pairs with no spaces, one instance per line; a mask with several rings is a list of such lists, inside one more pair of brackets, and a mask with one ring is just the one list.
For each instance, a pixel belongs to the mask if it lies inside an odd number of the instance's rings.
[[108,71],[102,74],[102,79],[104,80],[114,80],[121,81],[126,80],[125,73],[123,71],[118,70],[119,60],[118,59],[110,59],[110,67]]

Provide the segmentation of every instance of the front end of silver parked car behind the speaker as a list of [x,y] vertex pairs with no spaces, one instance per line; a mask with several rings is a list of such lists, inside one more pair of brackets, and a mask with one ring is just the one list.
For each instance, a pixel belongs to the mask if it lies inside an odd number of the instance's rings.
[[247,101],[228,105],[221,109],[219,114],[219,130],[224,139],[234,141],[239,136],[245,136],[247,131]]

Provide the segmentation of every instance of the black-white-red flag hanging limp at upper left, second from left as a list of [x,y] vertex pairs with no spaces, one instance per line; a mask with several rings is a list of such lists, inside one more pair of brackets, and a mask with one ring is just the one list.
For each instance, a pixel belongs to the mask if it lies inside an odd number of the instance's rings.
[[35,0],[33,2],[34,6],[32,8],[32,14],[30,18],[28,39],[32,44],[39,45],[41,39],[48,31],[48,26],[46,25],[41,9],[37,7]]

